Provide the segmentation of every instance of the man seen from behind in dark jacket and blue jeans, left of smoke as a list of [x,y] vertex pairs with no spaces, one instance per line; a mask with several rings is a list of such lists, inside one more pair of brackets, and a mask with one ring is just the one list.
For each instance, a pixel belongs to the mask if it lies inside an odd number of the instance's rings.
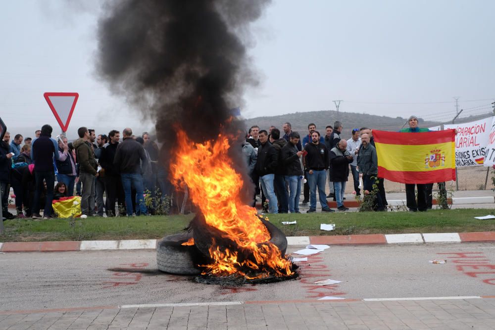
[[144,147],[132,138],[132,130],[125,128],[122,131],[124,141],[117,146],[113,166],[119,168],[122,186],[124,186],[125,205],[127,216],[132,216],[133,207],[131,189],[136,189],[136,210],[137,215],[146,215],[148,213],[143,196],[143,177],[141,176],[141,161],[146,162],[146,153]]

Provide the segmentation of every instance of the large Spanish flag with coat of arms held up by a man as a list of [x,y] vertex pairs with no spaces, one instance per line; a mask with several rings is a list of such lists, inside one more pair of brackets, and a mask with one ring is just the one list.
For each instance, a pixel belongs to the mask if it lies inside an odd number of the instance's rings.
[[373,130],[378,176],[403,184],[455,181],[455,130],[399,133]]

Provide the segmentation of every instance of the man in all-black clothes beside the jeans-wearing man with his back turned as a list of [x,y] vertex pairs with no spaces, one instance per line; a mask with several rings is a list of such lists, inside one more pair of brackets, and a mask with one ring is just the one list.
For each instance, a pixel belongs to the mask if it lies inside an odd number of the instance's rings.
[[118,202],[117,207],[119,210],[124,207],[124,189],[120,179],[119,168],[113,165],[115,152],[119,145],[120,132],[111,130],[108,133],[108,140],[108,143],[105,143],[101,150],[99,163],[105,172],[103,182],[106,190],[106,216],[114,217],[117,214],[115,212],[115,202]]

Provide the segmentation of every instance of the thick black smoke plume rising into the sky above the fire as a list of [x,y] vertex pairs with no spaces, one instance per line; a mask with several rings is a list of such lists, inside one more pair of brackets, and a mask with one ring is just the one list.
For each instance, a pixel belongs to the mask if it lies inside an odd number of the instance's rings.
[[256,84],[248,28],[268,2],[110,2],[99,21],[98,73],[114,93],[156,120],[166,148],[177,127],[196,142],[220,130],[239,135],[243,123],[227,121],[230,109],[242,105],[245,87]]

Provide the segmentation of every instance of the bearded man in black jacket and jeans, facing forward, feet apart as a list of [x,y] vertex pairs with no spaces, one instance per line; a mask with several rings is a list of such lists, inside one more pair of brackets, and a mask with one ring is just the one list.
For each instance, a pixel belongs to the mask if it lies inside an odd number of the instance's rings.
[[328,169],[328,150],[325,143],[320,143],[320,133],[314,131],[311,134],[311,143],[304,146],[307,154],[305,157],[306,171],[309,183],[309,210],[307,213],[316,212],[316,188],[320,196],[322,212],[335,212],[328,207],[325,194],[325,183]]

